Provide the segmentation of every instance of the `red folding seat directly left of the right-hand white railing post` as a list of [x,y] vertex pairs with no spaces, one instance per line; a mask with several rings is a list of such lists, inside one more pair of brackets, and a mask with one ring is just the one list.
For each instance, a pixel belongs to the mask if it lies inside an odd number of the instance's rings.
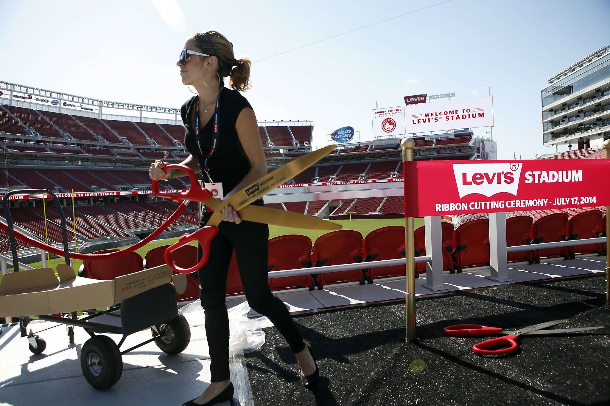
[[462,224],[455,230],[455,270],[464,267],[489,265],[489,220],[477,219]]

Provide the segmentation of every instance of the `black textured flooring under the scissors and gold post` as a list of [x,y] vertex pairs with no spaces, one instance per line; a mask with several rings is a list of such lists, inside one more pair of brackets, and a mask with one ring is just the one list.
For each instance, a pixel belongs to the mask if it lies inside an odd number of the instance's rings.
[[[246,354],[256,405],[610,405],[610,309],[605,276],[461,291],[417,301],[417,340],[404,342],[404,302],[296,316],[314,346],[320,380],[303,388],[279,332]],[[519,329],[569,318],[552,328],[592,332],[522,335],[517,351],[481,357],[490,337],[447,337],[451,324]],[[497,336],[498,337],[498,336]],[[422,360],[425,368],[422,369]]]

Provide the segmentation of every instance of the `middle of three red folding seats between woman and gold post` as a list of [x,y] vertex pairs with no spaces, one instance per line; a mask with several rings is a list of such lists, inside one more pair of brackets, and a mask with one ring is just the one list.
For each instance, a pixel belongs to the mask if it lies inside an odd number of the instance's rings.
[[[362,234],[354,230],[338,230],[318,237],[314,243],[312,262],[315,267],[354,264],[362,262]],[[320,273],[321,285],[360,281],[364,284],[362,270]]]

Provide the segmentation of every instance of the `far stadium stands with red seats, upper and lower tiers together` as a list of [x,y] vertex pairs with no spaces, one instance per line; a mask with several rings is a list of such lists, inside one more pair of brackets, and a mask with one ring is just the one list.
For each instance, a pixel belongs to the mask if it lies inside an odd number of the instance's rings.
[[[312,150],[310,121],[259,122],[259,135],[270,170]],[[0,194],[13,189],[54,192],[148,191],[146,170],[153,159],[169,153],[181,161],[188,152],[184,128],[174,108],[109,102],[0,82]],[[336,151],[289,183],[369,181],[401,178],[400,139],[376,139],[339,145]],[[439,137],[415,138],[415,159],[481,159],[486,142],[470,130]],[[188,180],[164,185],[186,189]],[[135,199],[135,200],[134,200]],[[140,200],[140,201],[138,201]],[[138,239],[156,228],[175,206],[167,201],[141,201],[134,195],[91,195],[76,198],[76,238],[90,242]],[[66,206],[68,202],[63,201]],[[134,206],[139,205],[139,206]],[[21,226],[42,237],[43,213],[35,201],[15,201]],[[320,217],[403,214],[400,197],[361,197],[343,201],[275,203],[273,207]],[[72,220],[70,213],[65,212]],[[348,214],[344,214],[348,213]],[[48,219],[57,211],[48,208]],[[160,216],[160,217],[159,217]],[[59,220],[58,220],[59,223]],[[168,229],[178,232],[197,224],[187,211]],[[60,235],[51,226],[51,240]],[[0,236],[0,251],[7,239]],[[27,248],[27,247],[23,247]]]

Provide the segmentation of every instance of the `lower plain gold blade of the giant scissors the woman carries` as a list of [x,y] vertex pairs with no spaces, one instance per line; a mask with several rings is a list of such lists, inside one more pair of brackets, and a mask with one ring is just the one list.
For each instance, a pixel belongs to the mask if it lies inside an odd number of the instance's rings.
[[293,228],[332,231],[341,229],[343,227],[340,224],[329,222],[328,220],[318,219],[318,217],[312,217],[310,215],[253,205],[248,205],[242,208],[239,211],[239,217],[242,220],[248,220],[250,222],[266,223]]

